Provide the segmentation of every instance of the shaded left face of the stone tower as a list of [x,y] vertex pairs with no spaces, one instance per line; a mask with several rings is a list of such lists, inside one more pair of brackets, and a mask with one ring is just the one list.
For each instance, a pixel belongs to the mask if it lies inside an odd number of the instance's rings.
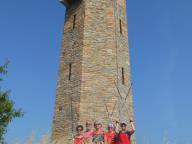
[[[75,26],[73,26],[74,16]],[[67,141],[71,141],[79,121],[83,29],[84,5],[78,3],[67,9],[65,16],[52,128],[52,141],[63,141],[66,144]]]

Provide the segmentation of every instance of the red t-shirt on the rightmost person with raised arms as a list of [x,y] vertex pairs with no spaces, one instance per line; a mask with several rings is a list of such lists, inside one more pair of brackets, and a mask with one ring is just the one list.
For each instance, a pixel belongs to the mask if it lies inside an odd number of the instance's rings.
[[131,144],[131,135],[134,131],[119,132],[118,144]]

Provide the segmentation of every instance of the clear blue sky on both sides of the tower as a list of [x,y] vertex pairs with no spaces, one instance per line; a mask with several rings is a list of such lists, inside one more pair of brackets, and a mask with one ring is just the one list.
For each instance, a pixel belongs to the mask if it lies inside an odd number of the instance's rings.
[[[137,141],[192,144],[192,1],[127,0]],[[0,63],[11,61],[1,83],[11,89],[16,119],[8,142],[50,131],[64,7],[57,0],[0,2]]]

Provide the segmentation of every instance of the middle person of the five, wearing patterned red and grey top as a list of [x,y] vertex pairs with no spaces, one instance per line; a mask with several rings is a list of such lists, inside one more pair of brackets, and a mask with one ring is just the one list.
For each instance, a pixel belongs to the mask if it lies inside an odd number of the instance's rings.
[[104,144],[104,131],[102,129],[102,124],[98,121],[94,123],[93,132],[93,144]]

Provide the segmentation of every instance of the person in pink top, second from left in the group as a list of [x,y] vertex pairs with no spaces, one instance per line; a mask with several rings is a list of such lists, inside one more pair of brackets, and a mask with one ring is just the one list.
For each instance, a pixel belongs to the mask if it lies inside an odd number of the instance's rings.
[[92,144],[93,139],[92,123],[90,121],[87,121],[85,126],[86,126],[86,130],[84,132],[85,144]]

